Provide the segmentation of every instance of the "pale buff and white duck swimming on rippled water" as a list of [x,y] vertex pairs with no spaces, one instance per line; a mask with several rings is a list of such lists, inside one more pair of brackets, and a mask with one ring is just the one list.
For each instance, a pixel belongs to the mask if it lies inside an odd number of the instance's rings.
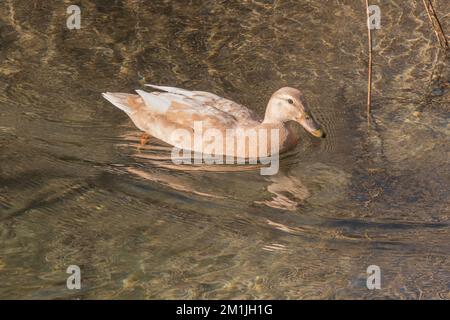
[[[153,91],[102,93],[142,131],[141,146],[155,137],[179,149],[214,152],[221,156],[250,158],[252,147],[265,154],[279,154],[299,142],[298,134],[287,125],[290,121],[299,123],[314,137],[325,137],[304,95],[296,88],[283,87],[275,91],[267,103],[264,117],[260,117],[246,106],[214,93],[153,84],[145,86]],[[267,135],[259,132],[267,132]],[[198,136],[200,143],[195,140]],[[239,143],[244,147],[239,148]]]

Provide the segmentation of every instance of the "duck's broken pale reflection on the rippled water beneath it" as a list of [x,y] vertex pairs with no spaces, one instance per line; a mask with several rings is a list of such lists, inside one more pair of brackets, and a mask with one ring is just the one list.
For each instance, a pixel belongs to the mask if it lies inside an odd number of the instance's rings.
[[[140,134],[131,131],[122,136],[124,143],[119,146],[128,150],[134,163],[126,167],[126,170],[141,179],[159,183],[173,190],[189,193],[196,196],[227,199],[240,197],[238,188],[246,188],[242,185],[243,177],[240,172],[247,172],[252,177],[252,182],[257,183],[257,188],[263,185],[264,191],[258,192],[253,204],[265,205],[275,209],[295,211],[299,204],[310,196],[307,187],[298,176],[292,175],[289,170],[290,161],[295,153],[284,156],[281,163],[285,168],[271,176],[261,176],[261,165],[208,165],[202,164],[175,164],[171,158],[172,146],[157,139],[152,139],[142,146]],[[205,185],[205,175],[217,173],[232,173],[227,179],[224,176],[214,177],[218,183]],[[211,178],[211,176],[210,176]],[[245,178],[245,177],[244,177]],[[209,179],[206,179],[209,180]],[[240,181],[238,181],[240,180]],[[223,184],[222,184],[223,183]],[[248,181],[250,183],[250,181]],[[250,188],[247,186],[247,188]],[[246,193],[246,190],[244,193]]]

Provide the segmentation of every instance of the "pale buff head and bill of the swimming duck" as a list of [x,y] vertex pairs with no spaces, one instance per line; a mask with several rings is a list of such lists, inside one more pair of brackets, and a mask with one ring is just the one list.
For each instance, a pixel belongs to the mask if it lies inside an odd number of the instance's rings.
[[300,90],[281,88],[272,95],[267,104],[264,123],[287,121],[298,122],[315,137],[324,138],[325,133],[311,116],[311,112]]

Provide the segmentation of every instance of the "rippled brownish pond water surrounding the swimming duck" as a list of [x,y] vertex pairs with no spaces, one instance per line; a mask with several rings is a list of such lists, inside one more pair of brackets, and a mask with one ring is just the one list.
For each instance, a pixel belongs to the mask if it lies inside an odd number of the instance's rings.
[[[450,298],[449,64],[421,1],[379,4],[370,129],[363,2],[81,1],[68,30],[70,4],[0,3],[0,298]],[[298,87],[328,136],[298,127],[276,176],[176,167],[100,95],[143,83],[261,115]]]

